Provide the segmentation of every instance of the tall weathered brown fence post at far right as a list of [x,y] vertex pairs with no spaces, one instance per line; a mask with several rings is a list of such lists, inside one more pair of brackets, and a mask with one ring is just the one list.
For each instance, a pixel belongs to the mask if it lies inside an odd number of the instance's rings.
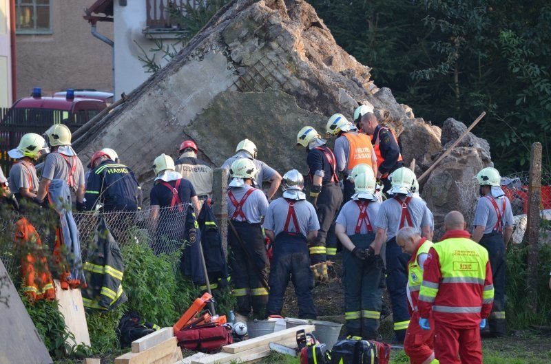
[[526,243],[528,244],[528,297],[530,309],[537,311],[538,242],[541,203],[541,143],[532,144],[530,152],[530,182],[528,186],[528,219]]

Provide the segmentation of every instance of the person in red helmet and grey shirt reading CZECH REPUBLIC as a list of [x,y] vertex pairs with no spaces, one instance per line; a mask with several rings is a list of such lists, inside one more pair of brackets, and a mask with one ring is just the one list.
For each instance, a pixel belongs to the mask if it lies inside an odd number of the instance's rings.
[[176,171],[182,178],[194,185],[197,197],[202,202],[212,196],[212,168],[207,162],[197,158],[197,145],[193,140],[180,144],[180,158],[174,161]]

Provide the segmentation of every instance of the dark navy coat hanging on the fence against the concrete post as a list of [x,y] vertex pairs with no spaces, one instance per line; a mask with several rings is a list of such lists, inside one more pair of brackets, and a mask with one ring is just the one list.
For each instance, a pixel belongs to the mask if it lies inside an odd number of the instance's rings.
[[[227,286],[228,266],[224,248],[222,248],[222,235],[220,235],[220,228],[216,225],[216,217],[209,204],[202,204],[198,223],[211,289]],[[202,284],[205,284],[205,281]]]

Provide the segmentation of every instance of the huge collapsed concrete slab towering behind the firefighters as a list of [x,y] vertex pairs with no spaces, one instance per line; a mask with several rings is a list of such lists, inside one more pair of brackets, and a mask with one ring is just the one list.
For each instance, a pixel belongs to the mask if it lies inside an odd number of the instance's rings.
[[298,130],[312,125],[323,132],[332,114],[351,120],[355,107],[370,103],[404,132],[404,158],[418,161],[419,175],[441,151],[439,128],[415,119],[390,89],[373,83],[370,71],[335,43],[305,1],[235,0],[74,146],[84,160],[97,149],[116,149],[146,196],[152,161],[160,153],[176,157],[184,138],[193,138],[215,166],[249,138],[258,158],[280,173],[306,174],[305,155],[294,148]]

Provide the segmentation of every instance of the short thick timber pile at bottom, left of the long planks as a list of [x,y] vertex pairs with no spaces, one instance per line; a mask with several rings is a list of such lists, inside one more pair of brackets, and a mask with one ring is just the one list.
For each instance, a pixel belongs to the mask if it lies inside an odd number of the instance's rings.
[[174,364],[182,360],[174,330],[162,328],[132,341],[132,351],[115,358],[115,364]]

